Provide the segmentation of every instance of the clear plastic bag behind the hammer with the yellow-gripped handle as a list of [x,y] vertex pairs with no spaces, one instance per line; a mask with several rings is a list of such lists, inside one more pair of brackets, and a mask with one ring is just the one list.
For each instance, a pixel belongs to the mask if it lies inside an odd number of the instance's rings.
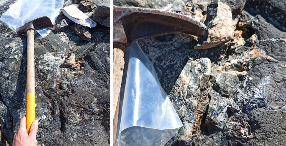
[[[25,23],[47,16],[54,24],[64,0],[18,0],[1,16],[0,20],[16,32],[16,28]],[[41,39],[51,32],[52,28],[35,31],[35,39]]]

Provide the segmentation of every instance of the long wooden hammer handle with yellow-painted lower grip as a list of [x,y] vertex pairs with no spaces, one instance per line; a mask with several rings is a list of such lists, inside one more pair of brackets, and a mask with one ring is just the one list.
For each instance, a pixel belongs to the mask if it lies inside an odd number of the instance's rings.
[[35,113],[35,61],[34,61],[34,37],[35,30],[27,31],[27,104],[26,104],[26,128],[30,133],[30,127],[36,120]]

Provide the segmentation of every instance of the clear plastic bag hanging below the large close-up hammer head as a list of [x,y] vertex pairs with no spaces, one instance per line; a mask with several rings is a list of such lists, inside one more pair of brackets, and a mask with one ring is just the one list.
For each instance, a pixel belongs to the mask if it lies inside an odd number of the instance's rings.
[[127,48],[125,64],[116,146],[164,145],[183,124],[137,42]]

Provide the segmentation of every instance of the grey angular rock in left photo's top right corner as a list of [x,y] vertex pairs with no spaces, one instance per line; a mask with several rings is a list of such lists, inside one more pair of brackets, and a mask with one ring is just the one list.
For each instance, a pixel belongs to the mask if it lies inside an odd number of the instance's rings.
[[110,27],[110,0],[103,0],[97,4],[93,20],[101,25]]

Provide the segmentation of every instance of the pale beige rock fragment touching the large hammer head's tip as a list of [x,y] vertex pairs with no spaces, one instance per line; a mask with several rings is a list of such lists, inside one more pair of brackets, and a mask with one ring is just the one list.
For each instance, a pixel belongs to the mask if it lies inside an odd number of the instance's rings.
[[195,46],[195,49],[208,49],[216,47],[224,42],[228,42],[234,36],[234,26],[232,23],[231,9],[222,2],[217,2],[217,16],[212,21],[209,28],[208,39],[203,45]]

